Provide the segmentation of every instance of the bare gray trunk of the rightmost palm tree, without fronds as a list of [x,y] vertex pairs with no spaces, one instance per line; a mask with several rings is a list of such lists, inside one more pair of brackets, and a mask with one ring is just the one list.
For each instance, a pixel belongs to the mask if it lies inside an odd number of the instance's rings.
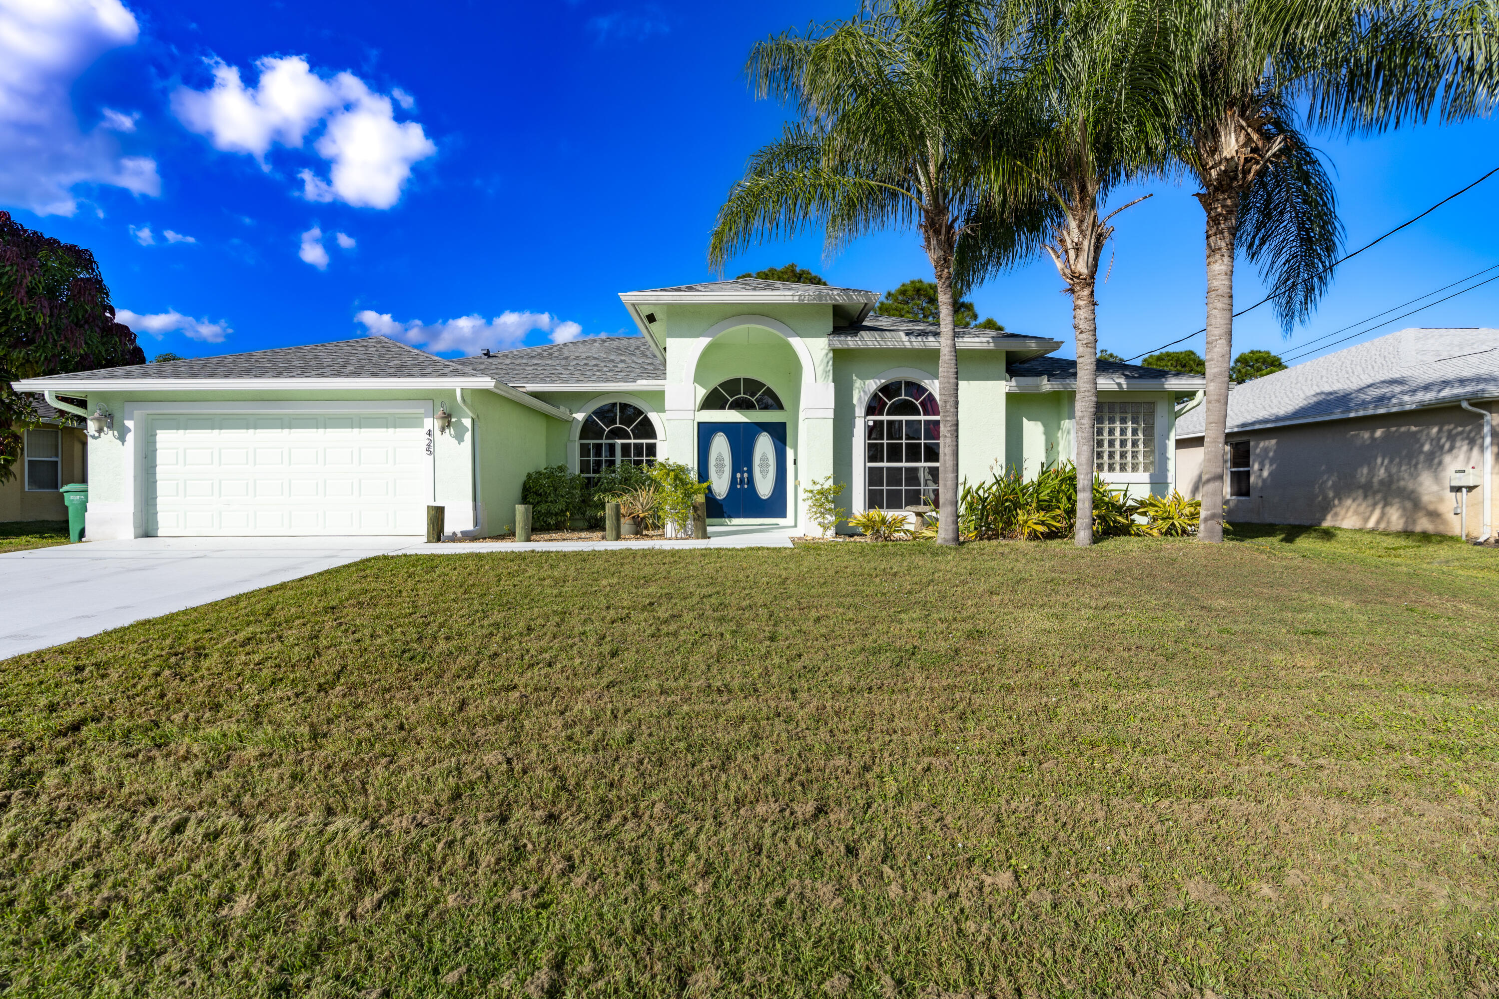
[[1238,232],[1238,190],[1208,187],[1198,195],[1207,210],[1208,343],[1207,398],[1202,433],[1202,520],[1198,541],[1223,541],[1223,443],[1228,425],[1228,371],[1234,353],[1234,240]]

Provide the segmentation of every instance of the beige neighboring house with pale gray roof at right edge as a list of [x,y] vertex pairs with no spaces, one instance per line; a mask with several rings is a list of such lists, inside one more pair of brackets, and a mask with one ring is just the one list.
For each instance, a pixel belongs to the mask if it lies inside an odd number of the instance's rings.
[[[1228,518],[1456,535],[1462,469],[1480,482],[1466,500],[1480,538],[1496,512],[1484,416],[1496,401],[1499,330],[1402,330],[1244,382],[1228,397]],[[1202,418],[1198,406],[1177,425],[1189,496],[1201,496]]]

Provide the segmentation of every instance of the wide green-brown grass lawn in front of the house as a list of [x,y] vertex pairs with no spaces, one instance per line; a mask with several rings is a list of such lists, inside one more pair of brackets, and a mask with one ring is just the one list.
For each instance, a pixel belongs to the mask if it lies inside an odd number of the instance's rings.
[[24,996],[1484,996],[1499,551],[382,557],[6,661]]

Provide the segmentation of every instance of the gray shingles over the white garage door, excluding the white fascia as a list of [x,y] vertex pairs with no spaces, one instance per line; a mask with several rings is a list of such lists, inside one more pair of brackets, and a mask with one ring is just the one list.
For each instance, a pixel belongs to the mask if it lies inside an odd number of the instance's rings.
[[301,347],[276,347],[216,358],[189,358],[162,364],[97,368],[72,374],[49,374],[31,382],[90,382],[132,379],[217,379],[217,377],[466,377],[469,371],[426,350],[408,347],[387,337],[360,337],[313,343]]

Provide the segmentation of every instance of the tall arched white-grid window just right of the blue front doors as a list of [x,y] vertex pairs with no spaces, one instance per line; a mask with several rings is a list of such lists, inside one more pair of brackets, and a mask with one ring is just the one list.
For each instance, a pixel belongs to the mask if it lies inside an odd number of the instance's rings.
[[869,397],[863,413],[868,509],[938,503],[938,416],[937,397],[920,382],[887,382]]

